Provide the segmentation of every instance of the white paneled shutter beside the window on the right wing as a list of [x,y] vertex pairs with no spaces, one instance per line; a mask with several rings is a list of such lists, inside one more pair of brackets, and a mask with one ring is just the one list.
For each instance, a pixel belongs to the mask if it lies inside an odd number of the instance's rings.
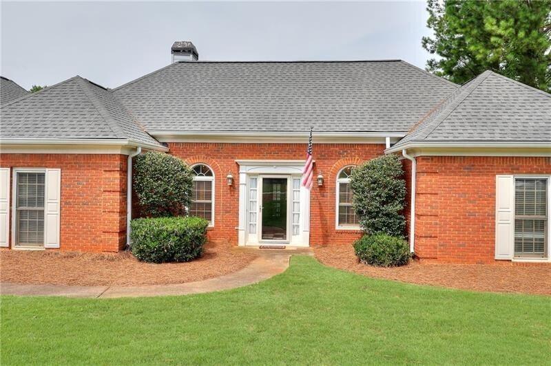
[[514,250],[514,177],[496,175],[495,259],[512,259]]

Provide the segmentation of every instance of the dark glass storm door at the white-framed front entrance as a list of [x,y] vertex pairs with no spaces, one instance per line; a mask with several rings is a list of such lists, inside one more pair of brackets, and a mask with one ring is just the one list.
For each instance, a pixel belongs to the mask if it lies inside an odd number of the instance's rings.
[[287,241],[287,177],[262,177],[262,240]]

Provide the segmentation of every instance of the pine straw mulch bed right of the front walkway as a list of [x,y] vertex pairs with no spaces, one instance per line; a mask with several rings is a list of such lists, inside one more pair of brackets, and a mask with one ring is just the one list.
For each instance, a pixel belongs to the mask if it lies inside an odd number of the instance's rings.
[[351,246],[314,248],[326,266],[381,279],[464,290],[551,295],[551,265],[422,263],[378,268],[359,263]]

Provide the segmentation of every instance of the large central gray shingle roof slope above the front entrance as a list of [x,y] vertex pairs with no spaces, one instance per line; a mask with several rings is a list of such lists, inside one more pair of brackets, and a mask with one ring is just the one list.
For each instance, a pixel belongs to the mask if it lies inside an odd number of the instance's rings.
[[151,133],[406,132],[457,87],[404,61],[195,61],[113,92]]

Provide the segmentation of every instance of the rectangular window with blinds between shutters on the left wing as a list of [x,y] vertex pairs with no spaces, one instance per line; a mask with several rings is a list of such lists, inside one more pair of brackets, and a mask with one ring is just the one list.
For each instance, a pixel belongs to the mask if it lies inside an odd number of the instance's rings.
[[16,246],[44,246],[44,173],[17,172]]

